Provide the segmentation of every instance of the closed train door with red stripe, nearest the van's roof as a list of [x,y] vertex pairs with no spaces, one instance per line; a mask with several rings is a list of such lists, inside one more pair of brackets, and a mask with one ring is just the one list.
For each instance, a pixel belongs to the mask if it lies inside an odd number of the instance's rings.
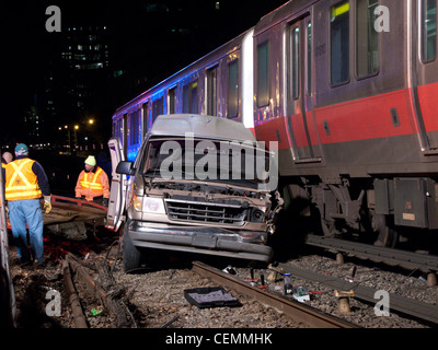
[[312,144],[312,22],[306,15],[290,25],[288,59],[288,118],[296,163],[320,162]]

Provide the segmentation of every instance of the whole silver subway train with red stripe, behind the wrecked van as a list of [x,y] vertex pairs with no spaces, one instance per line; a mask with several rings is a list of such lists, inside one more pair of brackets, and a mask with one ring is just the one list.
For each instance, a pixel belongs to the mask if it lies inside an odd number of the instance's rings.
[[[290,218],[392,247],[438,229],[437,0],[292,0],[119,107],[134,160],[162,114],[278,144]],[[296,214],[296,215],[295,215]]]

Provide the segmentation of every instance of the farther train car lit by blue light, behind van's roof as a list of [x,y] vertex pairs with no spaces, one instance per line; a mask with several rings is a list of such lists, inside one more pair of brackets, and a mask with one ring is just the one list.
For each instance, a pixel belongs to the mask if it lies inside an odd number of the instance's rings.
[[165,79],[113,116],[113,136],[134,161],[159,115],[203,114],[253,129],[253,28]]

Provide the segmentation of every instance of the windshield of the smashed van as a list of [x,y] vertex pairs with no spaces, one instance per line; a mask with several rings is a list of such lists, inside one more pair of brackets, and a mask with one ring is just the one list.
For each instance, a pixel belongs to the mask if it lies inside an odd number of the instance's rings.
[[143,176],[175,180],[260,184],[268,179],[269,153],[252,141],[152,139],[140,172]]

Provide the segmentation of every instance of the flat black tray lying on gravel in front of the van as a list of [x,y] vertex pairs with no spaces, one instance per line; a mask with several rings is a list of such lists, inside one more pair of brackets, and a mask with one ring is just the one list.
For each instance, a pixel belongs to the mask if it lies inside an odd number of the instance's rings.
[[221,287],[186,289],[184,298],[199,308],[240,306],[239,301]]

